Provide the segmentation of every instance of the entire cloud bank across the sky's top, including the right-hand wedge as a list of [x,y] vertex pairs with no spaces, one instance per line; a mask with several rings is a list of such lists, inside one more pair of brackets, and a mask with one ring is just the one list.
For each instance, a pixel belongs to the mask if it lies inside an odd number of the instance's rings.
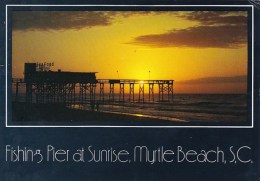
[[[14,31],[80,30],[109,26],[123,18],[171,14],[199,25],[135,37],[128,44],[149,47],[238,48],[247,42],[246,12],[228,11],[14,11]],[[121,20],[117,19],[120,17]]]

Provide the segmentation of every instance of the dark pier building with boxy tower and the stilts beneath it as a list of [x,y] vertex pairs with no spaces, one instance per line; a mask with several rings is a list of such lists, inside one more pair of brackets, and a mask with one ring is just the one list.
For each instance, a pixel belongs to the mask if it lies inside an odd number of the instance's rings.
[[73,104],[76,84],[82,103],[86,102],[88,92],[89,100],[95,100],[96,72],[36,71],[36,63],[25,63],[24,70],[26,102],[32,102],[34,93],[36,103]]

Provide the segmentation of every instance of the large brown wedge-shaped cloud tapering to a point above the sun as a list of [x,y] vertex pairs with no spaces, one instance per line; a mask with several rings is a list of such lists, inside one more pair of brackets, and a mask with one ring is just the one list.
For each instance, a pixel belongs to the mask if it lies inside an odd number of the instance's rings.
[[247,28],[241,26],[198,26],[163,34],[136,37],[129,44],[149,47],[238,48],[247,42]]

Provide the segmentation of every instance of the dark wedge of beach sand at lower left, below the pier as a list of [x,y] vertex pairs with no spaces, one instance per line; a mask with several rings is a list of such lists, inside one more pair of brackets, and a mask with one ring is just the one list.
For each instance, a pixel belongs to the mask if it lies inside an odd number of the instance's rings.
[[168,122],[156,118],[134,115],[116,114],[101,111],[69,109],[58,104],[13,103],[12,121],[46,121],[46,122],[107,122],[128,123],[130,125],[151,124],[152,122]]

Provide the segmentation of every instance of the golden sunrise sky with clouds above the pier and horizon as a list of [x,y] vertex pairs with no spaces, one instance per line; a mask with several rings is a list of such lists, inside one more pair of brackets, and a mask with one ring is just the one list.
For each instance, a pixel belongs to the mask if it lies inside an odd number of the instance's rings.
[[246,11],[13,11],[12,76],[25,62],[98,79],[169,79],[175,93],[247,92]]

